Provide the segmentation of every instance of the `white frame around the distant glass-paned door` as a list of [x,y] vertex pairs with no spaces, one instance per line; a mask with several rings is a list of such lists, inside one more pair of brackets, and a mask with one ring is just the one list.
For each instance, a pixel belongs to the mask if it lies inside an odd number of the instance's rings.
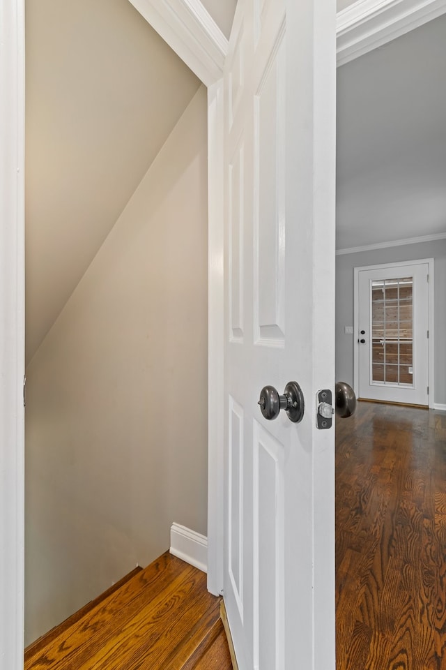
[[[394,263],[383,263],[381,265],[364,265],[364,267],[355,267],[354,268],[354,288],[353,288],[353,343],[359,338],[360,325],[359,325],[359,314],[360,314],[360,289],[359,289],[359,278],[360,271],[362,270],[376,270],[376,269],[386,269],[393,267],[400,267],[402,265],[420,265],[424,264],[429,267],[429,409],[435,408],[435,364],[434,364],[434,355],[435,355],[435,343],[434,343],[434,301],[433,301],[433,284],[434,284],[434,260],[433,258],[423,258],[417,260],[406,260],[398,261]],[[359,352],[357,346],[354,345],[353,348],[353,388],[357,397],[359,397],[360,389],[360,366],[359,366]]]

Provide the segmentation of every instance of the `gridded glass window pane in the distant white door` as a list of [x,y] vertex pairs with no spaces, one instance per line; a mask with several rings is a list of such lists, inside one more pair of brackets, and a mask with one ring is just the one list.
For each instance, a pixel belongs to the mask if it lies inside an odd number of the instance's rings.
[[413,277],[371,282],[372,381],[413,386]]

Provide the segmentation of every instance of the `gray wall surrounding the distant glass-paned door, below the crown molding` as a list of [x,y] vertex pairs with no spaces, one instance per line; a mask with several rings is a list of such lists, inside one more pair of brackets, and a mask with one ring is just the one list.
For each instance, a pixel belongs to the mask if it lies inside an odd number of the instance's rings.
[[417,258],[435,259],[435,350],[434,401],[446,404],[446,239],[392,246],[360,253],[338,255],[336,259],[336,379],[353,386],[353,335],[344,326],[353,324],[353,268]]

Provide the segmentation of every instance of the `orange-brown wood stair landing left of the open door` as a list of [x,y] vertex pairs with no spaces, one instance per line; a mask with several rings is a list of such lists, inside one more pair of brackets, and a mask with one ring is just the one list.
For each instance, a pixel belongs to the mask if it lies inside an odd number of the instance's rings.
[[33,643],[24,670],[231,670],[220,598],[164,553]]

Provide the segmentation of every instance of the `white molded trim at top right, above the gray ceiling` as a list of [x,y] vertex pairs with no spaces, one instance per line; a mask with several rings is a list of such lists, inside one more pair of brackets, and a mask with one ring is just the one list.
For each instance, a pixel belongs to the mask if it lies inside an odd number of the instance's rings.
[[446,0],[359,0],[337,13],[341,66],[446,13]]

